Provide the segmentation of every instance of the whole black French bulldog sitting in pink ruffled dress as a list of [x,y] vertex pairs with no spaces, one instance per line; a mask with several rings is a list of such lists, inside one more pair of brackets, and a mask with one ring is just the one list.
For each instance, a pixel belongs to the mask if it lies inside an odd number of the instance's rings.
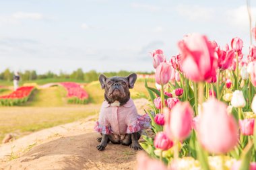
[[97,138],[99,151],[104,151],[108,142],[130,146],[135,151],[141,150],[138,142],[141,130],[150,127],[150,117],[145,114],[139,116],[130,98],[137,75],[132,73],[127,77],[106,77],[100,75],[99,81],[104,89],[104,102],[100,116],[94,129],[102,137]]

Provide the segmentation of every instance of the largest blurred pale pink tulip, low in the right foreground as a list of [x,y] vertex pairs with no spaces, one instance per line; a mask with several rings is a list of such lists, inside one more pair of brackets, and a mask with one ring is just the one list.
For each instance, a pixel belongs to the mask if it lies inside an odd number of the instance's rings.
[[197,130],[199,141],[210,153],[227,153],[238,141],[236,121],[226,108],[226,104],[214,97],[203,103]]

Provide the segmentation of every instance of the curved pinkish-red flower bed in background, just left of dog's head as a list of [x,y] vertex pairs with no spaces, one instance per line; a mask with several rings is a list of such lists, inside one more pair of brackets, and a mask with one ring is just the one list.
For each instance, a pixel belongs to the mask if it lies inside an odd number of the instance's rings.
[[63,82],[59,83],[67,90],[67,102],[86,104],[89,101],[89,95],[82,87],[77,83]]

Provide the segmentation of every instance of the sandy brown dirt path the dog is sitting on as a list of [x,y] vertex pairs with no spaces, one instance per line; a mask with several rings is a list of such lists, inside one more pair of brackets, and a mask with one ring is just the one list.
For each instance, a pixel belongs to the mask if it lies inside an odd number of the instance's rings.
[[[143,113],[148,101],[134,101]],[[133,169],[136,153],[129,146],[108,144],[104,152],[96,149],[100,136],[93,130],[96,118],[41,130],[1,145],[0,169]]]

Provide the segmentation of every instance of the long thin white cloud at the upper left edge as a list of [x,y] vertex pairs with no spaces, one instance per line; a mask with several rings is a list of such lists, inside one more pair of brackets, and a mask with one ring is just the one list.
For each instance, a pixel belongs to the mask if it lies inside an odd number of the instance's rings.
[[30,13],[18,11],[11,15],[0,15],[0,24],[19,24],[22,20],[42,20],[41,13]]

